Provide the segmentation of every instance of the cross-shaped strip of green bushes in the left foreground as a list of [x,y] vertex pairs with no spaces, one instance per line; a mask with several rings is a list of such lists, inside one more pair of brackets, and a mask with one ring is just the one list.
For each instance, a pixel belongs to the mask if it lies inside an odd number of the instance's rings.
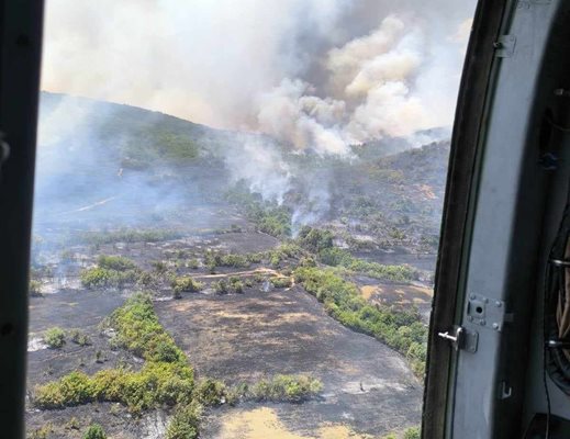
[[[187,357],[158,322],[147,294],[128,299],[113,312],[108,324],[116,331],[111,342],[143,358],[143,368],[139,371],[105,369],[92,376],[74,371],[37,386],[33,398],[37,407],[51,409],[118,402],[133,414],[160,406],[175,407],[167,439],[193,439],[198,437],[202,406],[249,399],[299,403],[322,390],[318,380],[305,375],[276,375],[233,387],[212,379],[197,384]],[[57,333],[59,341],[64,333]]]

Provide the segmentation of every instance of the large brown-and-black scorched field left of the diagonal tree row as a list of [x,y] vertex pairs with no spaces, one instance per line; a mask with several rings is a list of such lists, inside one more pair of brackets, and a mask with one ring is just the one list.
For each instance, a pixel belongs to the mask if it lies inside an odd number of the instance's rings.
[[[158,303],[157,311],[199,375],[235,382],[278,373],[321,379],[320,401],[272,406],[292,431],[314,436],[337,424],[379,435],[420,423],[422,385],[405,360],[328,317],[299,286],[194,295]],[[220,437],[219,413],[205,426],[206,437]]]

